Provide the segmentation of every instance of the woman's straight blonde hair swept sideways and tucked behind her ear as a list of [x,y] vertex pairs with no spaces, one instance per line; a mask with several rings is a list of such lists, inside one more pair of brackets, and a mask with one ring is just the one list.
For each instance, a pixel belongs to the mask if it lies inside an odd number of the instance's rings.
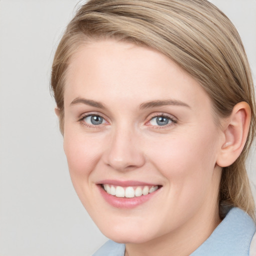
[[255,137],[255,96],[247,57],[231,21],[206,0],[88,1],[68,24],[52,64],[51,87],[60,111],[61,132],[68,61],[81,44],[101,38],[130,41],[167,55],[201,84],[211,98],[215,116],[230,115],[240,101],[249,104],[248,137],[237,160],[222,170],[219,202],[237,206],[255,219],[245,169]]

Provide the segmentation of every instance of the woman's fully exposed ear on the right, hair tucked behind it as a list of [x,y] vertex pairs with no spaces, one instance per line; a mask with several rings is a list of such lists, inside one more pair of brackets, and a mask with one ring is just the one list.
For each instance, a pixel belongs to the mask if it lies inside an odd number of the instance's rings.
[[232,164],[240,155],[248,135],[251,118],[250,106],[242,101],[237,103],[231,115],[224,121],[224,142],[217,155],[216,163],[220,167]]

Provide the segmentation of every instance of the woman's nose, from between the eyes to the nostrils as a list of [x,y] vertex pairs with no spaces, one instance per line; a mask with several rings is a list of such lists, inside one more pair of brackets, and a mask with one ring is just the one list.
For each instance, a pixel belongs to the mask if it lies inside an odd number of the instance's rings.
[[113,131],[109,147],[104,152],[104,162],[118,171],[141,167],[145,157],[139,134],[127,128]]

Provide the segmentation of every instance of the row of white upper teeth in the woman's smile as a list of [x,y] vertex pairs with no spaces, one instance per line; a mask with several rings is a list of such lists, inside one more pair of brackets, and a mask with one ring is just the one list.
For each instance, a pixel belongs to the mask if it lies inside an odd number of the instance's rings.
[[158,189],[158,186],[114,186],[109,184],[103,184],[105,191],[108,194],[115,195],[116,197],[128,197],[147,195]]

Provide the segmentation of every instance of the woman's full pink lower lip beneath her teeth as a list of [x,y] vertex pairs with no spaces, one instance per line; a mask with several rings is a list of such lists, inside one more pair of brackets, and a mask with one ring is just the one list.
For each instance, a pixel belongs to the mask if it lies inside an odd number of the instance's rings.
[[[111,182],[104,182],[104,184],[113,184]],[[120,184],[120,183],[118,183]],[[141,185],[141,183],[139,183]],[[113,184],[115,185],[115,184]],[[129,185],[131,186],[131,183],[129,183]],[[126,186],[123,185],[123,186]],[[141,195],[141,196],[135,196],[132,198],[126,198],[126,197],[116,197],[114,195],[108,194],[101,185],[97,185],[100,194],[102,195],[102,197],[106,200],[106,202],[108,202],[110,205],[114,206],[115,208],[123,208],[123,209],[131,209],[134,208],[146,201],[148,201],[149,199],[151,199],[154,195],[158,194],[157,192],[160,190],[157,189],[156,191],[152,192],[152,193],[148,193],[147,195]]]

